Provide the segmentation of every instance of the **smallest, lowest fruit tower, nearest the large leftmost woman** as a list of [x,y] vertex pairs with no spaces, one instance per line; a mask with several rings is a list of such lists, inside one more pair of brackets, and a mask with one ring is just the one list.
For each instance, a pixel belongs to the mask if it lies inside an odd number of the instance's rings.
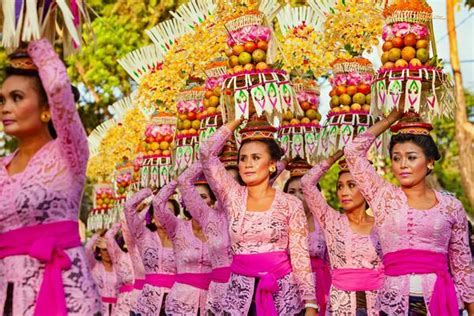
[[92,211],[87,219],[87,228],[91,231],[110,228],[113,220],[111,218],[114,207],[114,189],[110,183],[98,183],[94,185]]

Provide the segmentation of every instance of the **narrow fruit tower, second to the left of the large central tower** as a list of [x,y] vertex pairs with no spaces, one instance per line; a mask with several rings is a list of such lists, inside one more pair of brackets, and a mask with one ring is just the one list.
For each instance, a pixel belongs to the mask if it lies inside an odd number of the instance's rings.
[[193,83],[176,96],[179,119],[174,152],[174,172],[177,175],[188,168],[199,155],[199,129],[204,111],[204,94],[204,88]]

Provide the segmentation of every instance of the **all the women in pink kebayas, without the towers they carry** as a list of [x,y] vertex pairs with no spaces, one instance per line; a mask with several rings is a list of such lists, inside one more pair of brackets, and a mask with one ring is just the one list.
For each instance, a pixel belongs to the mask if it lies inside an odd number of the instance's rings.
[[[177,179],[135,193],[124,222],[84,251],[86,135],[51,45],[27,53],[10,58],[0,91],[5,132],[19,141],[0,160],[4,315],[474,314],[465,211],[428,187],[440,158],[429,126],[395,124],[398,110],[313,167],[290,162],[284,192],[272,186],[283,169],[274,129],[250,121],[229,163],[219,154],[242,121],[229,122]],[[366,158],[389,127],[399,186]],[[343,155],[339,212],[317,183]]]

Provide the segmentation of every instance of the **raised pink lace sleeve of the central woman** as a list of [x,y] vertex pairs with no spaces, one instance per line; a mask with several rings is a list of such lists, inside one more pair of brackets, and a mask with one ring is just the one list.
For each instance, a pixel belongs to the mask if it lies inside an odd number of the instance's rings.
[[202,163],[202,171],[223,208],[227,210],[229,193],[234,188],[240,187],[235,179],[227,172],[219,160],[219,153],[225,141],[232,135],[227,126],[222,126],[211,136],[200,148],[199,158]]

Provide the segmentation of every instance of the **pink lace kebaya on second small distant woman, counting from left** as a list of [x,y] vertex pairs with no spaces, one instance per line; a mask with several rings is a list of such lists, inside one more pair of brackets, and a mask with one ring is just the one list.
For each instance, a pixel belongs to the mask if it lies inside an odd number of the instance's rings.
[[[114,265],[115,274],[117,276],[117,291],[124,285],[133,284],[133,268],[132,260],[127,252],[123,252],[115,240],[115,235],[120,230],[120,225],[115,224],[105,233],[107,242],[107,251]],[[114,315],[129,316],[132,310],[134,298],[132,292],[117,293],[117,304],[115,306]]]

